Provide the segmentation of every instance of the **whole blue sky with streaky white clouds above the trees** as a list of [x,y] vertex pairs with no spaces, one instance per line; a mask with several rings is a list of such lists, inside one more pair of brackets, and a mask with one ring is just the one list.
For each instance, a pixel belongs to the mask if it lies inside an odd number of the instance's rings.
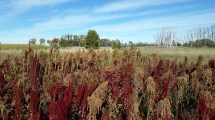
[[178,36],[215,24],[214,0],[0,0],[0,42],[28,43],[29,37],[53,39],[86,34],[124,42],[154,42],[162,27]]

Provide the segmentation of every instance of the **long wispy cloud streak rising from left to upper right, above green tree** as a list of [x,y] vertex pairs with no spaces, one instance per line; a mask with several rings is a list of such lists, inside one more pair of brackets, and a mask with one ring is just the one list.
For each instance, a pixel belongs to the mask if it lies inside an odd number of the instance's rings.
[[[181,7],[182,8],[182,7]],[[177,10],[178,8],[169,8],[168,10],[148,10],[144,12],[139,13],[130,13],[130,14],[111,14],[111,15],[98,15],[98,14],[84,14],[84,13],[73,13],[70,15],[67,15],[65,17],[53,17],[46,21],[38,22],[33,25],[32,28],[29,30],[26,29],[18,29],[16,31],[32,31],[32,33],[36,32],[44,32],[49,30],[65,30],[65,29],[72,29],[77,30],[81,29],[83,27],[88,28],[89,27],[95,27],[95,24],[100,24],[102,22],[110,22],[115,21],[118,19],[127,19],[127,18],[133,18],[133,17],[142,17],[145,15],[153,15],[153,14],[162,14],[168,11]],[[138,20],[135,20],[135,22],[140,22]],[[120,24],[119,24],[120,25]],[[112,26],[112,25],[107,25]],[[15,32],[16,33],[16,32]]]

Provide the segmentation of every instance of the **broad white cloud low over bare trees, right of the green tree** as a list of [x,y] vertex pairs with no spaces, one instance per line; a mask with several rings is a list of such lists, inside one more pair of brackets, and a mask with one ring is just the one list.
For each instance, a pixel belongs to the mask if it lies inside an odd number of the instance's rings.
[[100,31],[101,34],[110,34],[112,36],[118,37],[124,36],[125,41],[134,39],[135,41],[141,41],[141,39],[145,38],[153,42],[154,33],[160,30],[162,27],[170,26],[185,31],[187,28],[199,26],[202,24],[215,24],[214,16],[215,12],[196,13],[194,15],[174,15],[168,17],[156,17],[147,20],[139,19],[121,24],[98,25],[93,27],[93,29]]

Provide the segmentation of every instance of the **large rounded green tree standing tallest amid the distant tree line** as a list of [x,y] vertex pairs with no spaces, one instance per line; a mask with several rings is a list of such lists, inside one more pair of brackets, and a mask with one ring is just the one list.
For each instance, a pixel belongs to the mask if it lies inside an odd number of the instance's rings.
[[85,46],[86,48],[98,49],[99,43],[100,43],[99,35],[95,30],[89,30],[87,33],[85,42],[86,42],[86,46]]

